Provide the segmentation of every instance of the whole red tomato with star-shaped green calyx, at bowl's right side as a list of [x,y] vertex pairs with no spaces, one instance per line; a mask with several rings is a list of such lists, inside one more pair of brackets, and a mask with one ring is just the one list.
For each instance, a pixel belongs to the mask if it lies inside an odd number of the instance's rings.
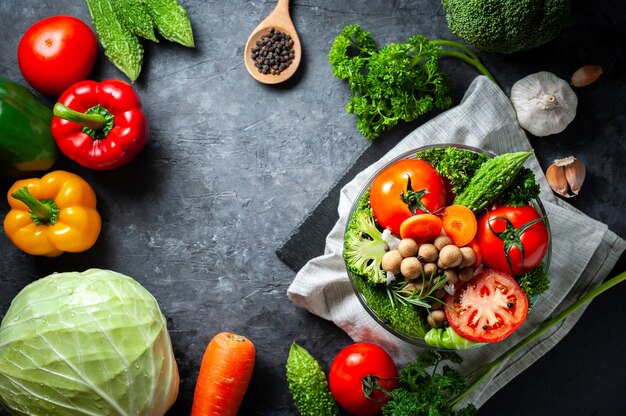
[[[477,239],[483,263],[514,276],[536,267],[545,257],[550,244],[548,229],[540,218],[539,213],[529,205],[499,207],[481,216]],[[535,220],[539,221],[527,226]]]

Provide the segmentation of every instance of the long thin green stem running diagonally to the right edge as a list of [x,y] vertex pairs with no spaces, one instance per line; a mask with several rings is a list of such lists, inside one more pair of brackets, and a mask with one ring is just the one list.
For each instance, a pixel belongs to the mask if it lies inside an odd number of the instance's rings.
[[567,318],[569,315],[574,313],[577,309],[591,302],[597,296],[611,289],[613,286],[623,282],[624,280],[626,280],[626,272],[622,272],[618,274],[617,276],[612,277],[611,279],[605,281],[600,286],[594,289],[591,289],[590,291],[585,293],[583,296],[581,296],[580,299],[578,299],[576,302],[571,304],[569,307],[565,308],[563,311],[555,315],[553,318],[545,321],[540,327],[538,327],[533,332],[528,334],[524,339],[522,339],[515,346],[507,350],[504,354],[496,358],[494,361],[468,374],[467,377],[472,378],[478,375],[478,378],[474,380],[472,384],[470,384],[463,393],[461,393],[456,398],[454,398],[454,400],[452,400],[452,406],[456,406],[459,403],[461,403],[467,396],[469,396],[476,389],[476,387],[478,387],[483,381],[485,381],[489,377],[489,375],[496,368],[498,368],[502,363],[504,363],[506,360],[514,356],[516,353],[518,353],[520,350],[525,348],[527,345],[534,342],[537,338],[545,334],[553,326],[555,326],[556,324],[558,324],[559,322]]

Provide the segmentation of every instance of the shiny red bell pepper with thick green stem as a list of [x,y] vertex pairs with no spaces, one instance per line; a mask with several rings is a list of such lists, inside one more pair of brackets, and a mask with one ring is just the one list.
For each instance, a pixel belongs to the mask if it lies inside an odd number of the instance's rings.
[[52,136],[67,157],[97,170],[130,162],[148,141],[137,93],[123,81],[80,81],[54,106]]

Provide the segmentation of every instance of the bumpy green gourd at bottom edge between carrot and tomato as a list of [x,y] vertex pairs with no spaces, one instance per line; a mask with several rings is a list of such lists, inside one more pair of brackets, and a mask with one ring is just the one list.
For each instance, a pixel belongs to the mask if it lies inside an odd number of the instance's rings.
[[287,358],[287,382],[301,416],[339,415],[324,371],[315,358],[295,342],[291,344]]

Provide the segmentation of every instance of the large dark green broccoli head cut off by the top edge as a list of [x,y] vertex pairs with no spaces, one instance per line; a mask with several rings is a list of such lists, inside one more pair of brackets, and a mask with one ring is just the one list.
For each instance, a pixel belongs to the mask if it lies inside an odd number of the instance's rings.
[[443,0],[452,33],[486,52],[513,53],[554,39],[570,0]]

